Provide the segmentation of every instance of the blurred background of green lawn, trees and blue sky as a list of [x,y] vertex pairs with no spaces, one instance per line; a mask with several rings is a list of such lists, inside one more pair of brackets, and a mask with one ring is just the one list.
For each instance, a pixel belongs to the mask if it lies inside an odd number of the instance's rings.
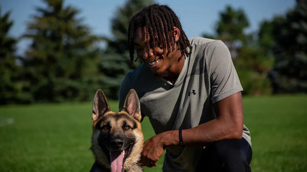
[[[128,22],[152,3],[172,8],[188,37],[228,46],[253,171],[307,171],[305,0],[0,0],[0,171],[90,170],[91,101],[102,89],[118,110],[133,70]],[[142,126],[145,139],[155,134]]]

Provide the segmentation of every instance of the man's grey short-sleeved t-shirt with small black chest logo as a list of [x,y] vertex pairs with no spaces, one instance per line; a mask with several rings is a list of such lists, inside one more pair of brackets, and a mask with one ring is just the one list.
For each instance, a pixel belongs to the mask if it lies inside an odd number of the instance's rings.
[[[135,89],[142,115],[148,116],[156,134],[190,129],[216,118],[213,103],[242,91],[227,46],[220,40],[189,39],[191,56],[185,57],[175,83],[156,79],[152,70],[141,64],[127,73],[119,91],[122,108],[130,89]],[[243,137],[251,144],[249,130]],[[163,171],[194,171],[203,147],[166,148]]]

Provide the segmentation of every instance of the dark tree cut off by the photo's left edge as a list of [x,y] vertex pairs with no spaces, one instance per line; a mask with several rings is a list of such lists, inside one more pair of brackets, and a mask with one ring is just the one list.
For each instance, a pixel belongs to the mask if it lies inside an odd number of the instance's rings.
[[21,94],[19,66],[16,65],[17,40],[8,36],[13,26],[10,12],[1,16],[0,8],[0,104],[17,103]]

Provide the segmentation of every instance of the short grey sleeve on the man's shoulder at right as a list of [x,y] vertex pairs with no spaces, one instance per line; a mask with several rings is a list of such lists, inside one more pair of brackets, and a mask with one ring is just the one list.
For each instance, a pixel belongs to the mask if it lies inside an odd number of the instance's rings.
[[243,90],[230,52],[224,42],[220,40],[210,42],[206,48],[205,57],[212,103]]

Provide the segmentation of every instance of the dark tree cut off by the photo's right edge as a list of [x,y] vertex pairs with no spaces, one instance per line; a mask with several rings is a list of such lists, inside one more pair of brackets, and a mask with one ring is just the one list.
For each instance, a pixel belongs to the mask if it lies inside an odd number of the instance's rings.
[[272,52],[279,92],[307,92],[307,1],[297,0],[286,16],[272,21]]

